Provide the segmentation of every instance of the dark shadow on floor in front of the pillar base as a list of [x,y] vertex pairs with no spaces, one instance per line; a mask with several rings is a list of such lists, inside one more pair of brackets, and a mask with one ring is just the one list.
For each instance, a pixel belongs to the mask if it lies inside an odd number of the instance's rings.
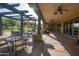
[[54,47],[50,44],[45,44],[44,41],[40,42],[40,43],[33,43],[32,42],[28,42],[27,45],[30,45],[32,46],[33,45],[33,48],[32,48],[32,53],[29,54],[30,56],[50,56],[47,48],[51,48],[51,49],[54,49]]

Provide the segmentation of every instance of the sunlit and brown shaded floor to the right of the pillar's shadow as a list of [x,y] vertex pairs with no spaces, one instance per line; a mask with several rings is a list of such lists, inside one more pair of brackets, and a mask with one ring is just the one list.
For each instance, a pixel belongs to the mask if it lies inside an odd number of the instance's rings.
[[48,48],[48,52],[52,56],[79,56],[79,46],[73,41],[61,34],[51,33],[43,35],[46,44],[53,46]]

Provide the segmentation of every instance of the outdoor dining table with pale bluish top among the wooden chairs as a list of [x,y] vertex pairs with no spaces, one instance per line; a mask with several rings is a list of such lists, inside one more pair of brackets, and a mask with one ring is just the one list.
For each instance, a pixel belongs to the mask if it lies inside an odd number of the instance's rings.
[[16,53],[16,43],[18,41],[21,41],[20,43],[22,42],[26,42],[27,40],[27,36],[7,36],[7,37],[0,37],[1,40],[4,40],[5,43],[7,43],[7,49],[8,49],[8,53],[9,55],[11,56],[15,56],[17,55]]

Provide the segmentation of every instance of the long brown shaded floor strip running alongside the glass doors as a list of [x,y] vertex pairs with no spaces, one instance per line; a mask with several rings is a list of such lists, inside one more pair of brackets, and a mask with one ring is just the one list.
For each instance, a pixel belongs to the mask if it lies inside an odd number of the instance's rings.
[[77,46],[73,40],[55,32],[52,32],[52,34],[55,35],[56,38],[50,35],[48,36],[59,41],[71,56],[79,56],[79,46]]

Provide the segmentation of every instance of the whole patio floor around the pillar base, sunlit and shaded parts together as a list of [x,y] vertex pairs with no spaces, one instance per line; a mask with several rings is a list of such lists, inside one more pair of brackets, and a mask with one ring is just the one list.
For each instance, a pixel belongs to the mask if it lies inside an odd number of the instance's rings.
[[40,43],[27,40],[27,48],[20,56],[79,56],[79,46],[64,35],[58,33],[42,34]]

